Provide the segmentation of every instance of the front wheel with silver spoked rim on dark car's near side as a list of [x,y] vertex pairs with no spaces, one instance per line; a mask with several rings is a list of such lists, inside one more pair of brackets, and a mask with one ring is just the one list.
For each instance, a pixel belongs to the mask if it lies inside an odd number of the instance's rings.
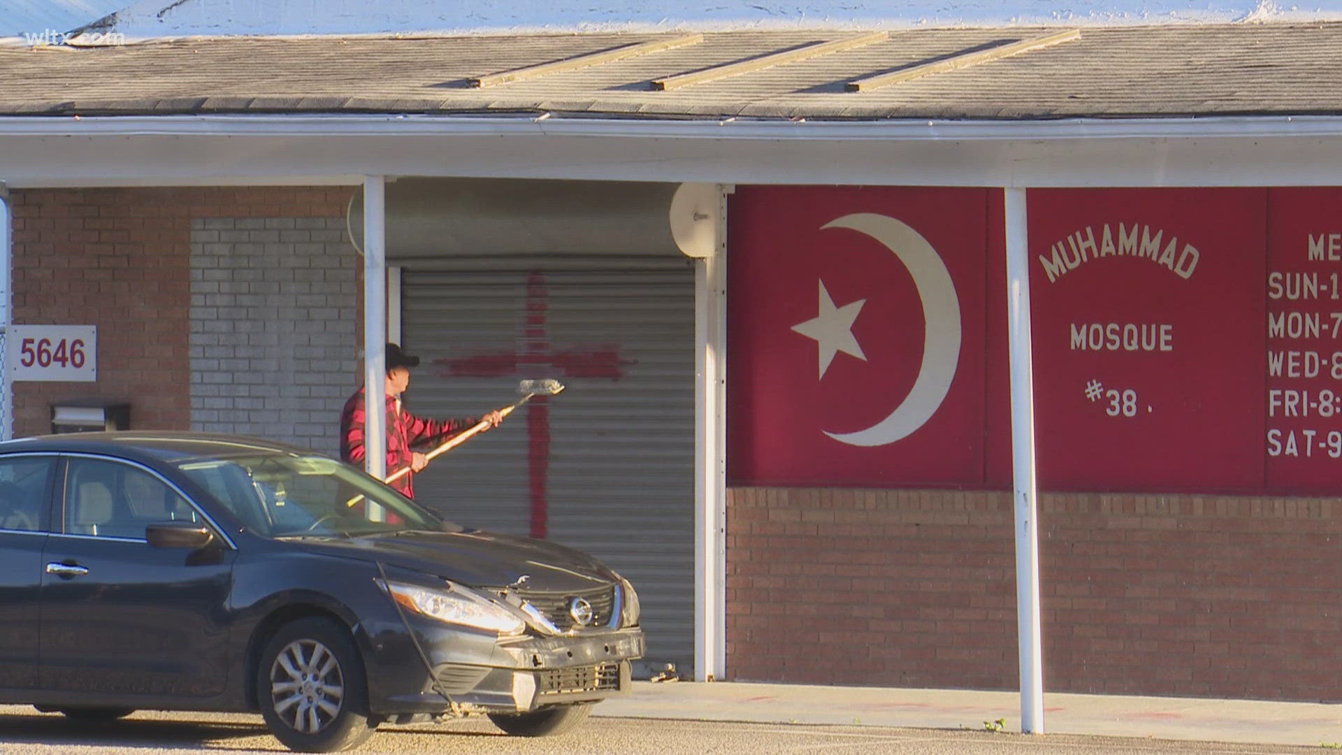
[[327,618],[290,622],[266,642],[256,703],[275,739],[298,752],[352,750],[377,728],[358,648]]

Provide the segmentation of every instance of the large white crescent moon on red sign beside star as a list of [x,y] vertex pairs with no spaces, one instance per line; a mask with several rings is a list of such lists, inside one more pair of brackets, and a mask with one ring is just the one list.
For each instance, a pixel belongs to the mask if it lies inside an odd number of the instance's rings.
[[825,435],[851,446],[894,443],[922,427],[950,392],[950,382],[960,365],[960,297],[956,294],[956,285],[946,263],[927,239],[894,218],[856,212],[825,223],[821,228],[852,228],[876,239],[905,263],[918,287],[926,322],[923,361],[909,396],[890,416],[866,430],[825,431]]

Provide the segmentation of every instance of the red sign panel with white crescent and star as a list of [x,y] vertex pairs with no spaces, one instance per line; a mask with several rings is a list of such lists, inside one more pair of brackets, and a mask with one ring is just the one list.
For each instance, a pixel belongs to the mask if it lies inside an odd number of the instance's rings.
[[986,200],[949,188],[737,191],[733,484],[982,484]]

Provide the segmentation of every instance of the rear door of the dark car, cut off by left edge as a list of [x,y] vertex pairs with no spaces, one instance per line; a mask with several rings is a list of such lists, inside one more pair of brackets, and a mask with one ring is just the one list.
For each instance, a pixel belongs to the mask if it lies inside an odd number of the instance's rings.
[[0,688],[38,685],[38,592],[54,455],[0,457]]

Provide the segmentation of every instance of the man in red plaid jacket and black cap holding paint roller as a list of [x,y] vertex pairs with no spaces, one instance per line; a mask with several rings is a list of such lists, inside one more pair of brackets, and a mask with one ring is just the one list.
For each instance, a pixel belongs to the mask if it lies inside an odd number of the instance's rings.
[[[416,445],[437,445],[452,435],[474,427],[480,419],[487,419],[490,427],[498,427],[503,416],[491,411],[483,418],[463,416],[460,419],[423,419],[401,408],[401,394],[411,383],[411,367],[419,367],[419,357],[409,356],[397,344],[386,344],[386,474],[404,468],[411,472],[392,481],[407,497],[415,497],[415,473],[424,469],[428,458],[415,451]],[[364,427],[366,422],[365,387],[361,387],[345,402],[340,415],[340,455],[349,463],[364,466]],[[488,429],[488,427],[487,427]]]

